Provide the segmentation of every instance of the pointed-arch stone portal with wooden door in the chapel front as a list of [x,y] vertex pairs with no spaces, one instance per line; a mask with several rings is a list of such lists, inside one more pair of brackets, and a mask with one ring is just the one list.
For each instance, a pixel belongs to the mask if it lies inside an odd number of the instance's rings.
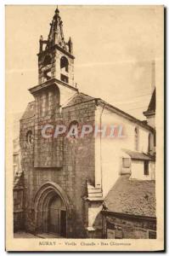
[[34,203],[37,232],[66,237],[70,203],[64,190],[56,183],[44,183]]

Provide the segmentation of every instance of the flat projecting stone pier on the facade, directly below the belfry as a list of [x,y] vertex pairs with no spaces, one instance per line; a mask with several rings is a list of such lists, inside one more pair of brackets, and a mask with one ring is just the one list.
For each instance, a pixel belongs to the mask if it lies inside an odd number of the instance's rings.
[[59,88],[52,84],[48,89],[41,90],[36,96],[35,116],[35,167],[62,167],[62,137],[57,139],[42,137],[45,125],[55,125],[61,121],[59,114]]

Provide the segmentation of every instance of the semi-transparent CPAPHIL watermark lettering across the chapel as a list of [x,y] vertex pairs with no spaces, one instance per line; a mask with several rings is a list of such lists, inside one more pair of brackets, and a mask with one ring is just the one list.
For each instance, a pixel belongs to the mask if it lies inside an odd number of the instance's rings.
[[42,137],[47,139],[52,137],[84,138],[89,135],[110,139],[127,137],[123,125],[79,124],[76,121],[72,121],[69,125],[42,125]]

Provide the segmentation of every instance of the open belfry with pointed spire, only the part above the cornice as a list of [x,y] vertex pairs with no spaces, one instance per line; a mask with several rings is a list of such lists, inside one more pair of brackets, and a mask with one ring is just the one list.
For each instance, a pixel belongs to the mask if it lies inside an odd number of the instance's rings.
[[66,43],[63,32],[63,22],[59,9],[55,10],[48,40],[42,36],[39,40],[38,83],[57,79],[65,84],[74,85],[74,59],[71,38]]

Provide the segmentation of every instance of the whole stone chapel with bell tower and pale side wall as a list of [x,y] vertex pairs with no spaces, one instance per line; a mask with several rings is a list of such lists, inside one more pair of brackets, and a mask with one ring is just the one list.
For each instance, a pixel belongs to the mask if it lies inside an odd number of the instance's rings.
[[[99,238],[103,203],[119,178],[139,176],[154,183],[154,144],[149,137],[154,138],[155,129],[79,92],[73,44],[71,38],[65,42],[59,9],[48,39],[41,36],[39,43],[38,84],[29,90],[35,100],[20,119],[24,193],[17,195],[24,198],[24,213],[14,218],[14,226],[21,223],[21,229],[42,237],[50,233]],[[68,134],[71,131],[70,137],[61,134],[57,125]],[[77,136],[84,125],[92,127],[91,132]]]

